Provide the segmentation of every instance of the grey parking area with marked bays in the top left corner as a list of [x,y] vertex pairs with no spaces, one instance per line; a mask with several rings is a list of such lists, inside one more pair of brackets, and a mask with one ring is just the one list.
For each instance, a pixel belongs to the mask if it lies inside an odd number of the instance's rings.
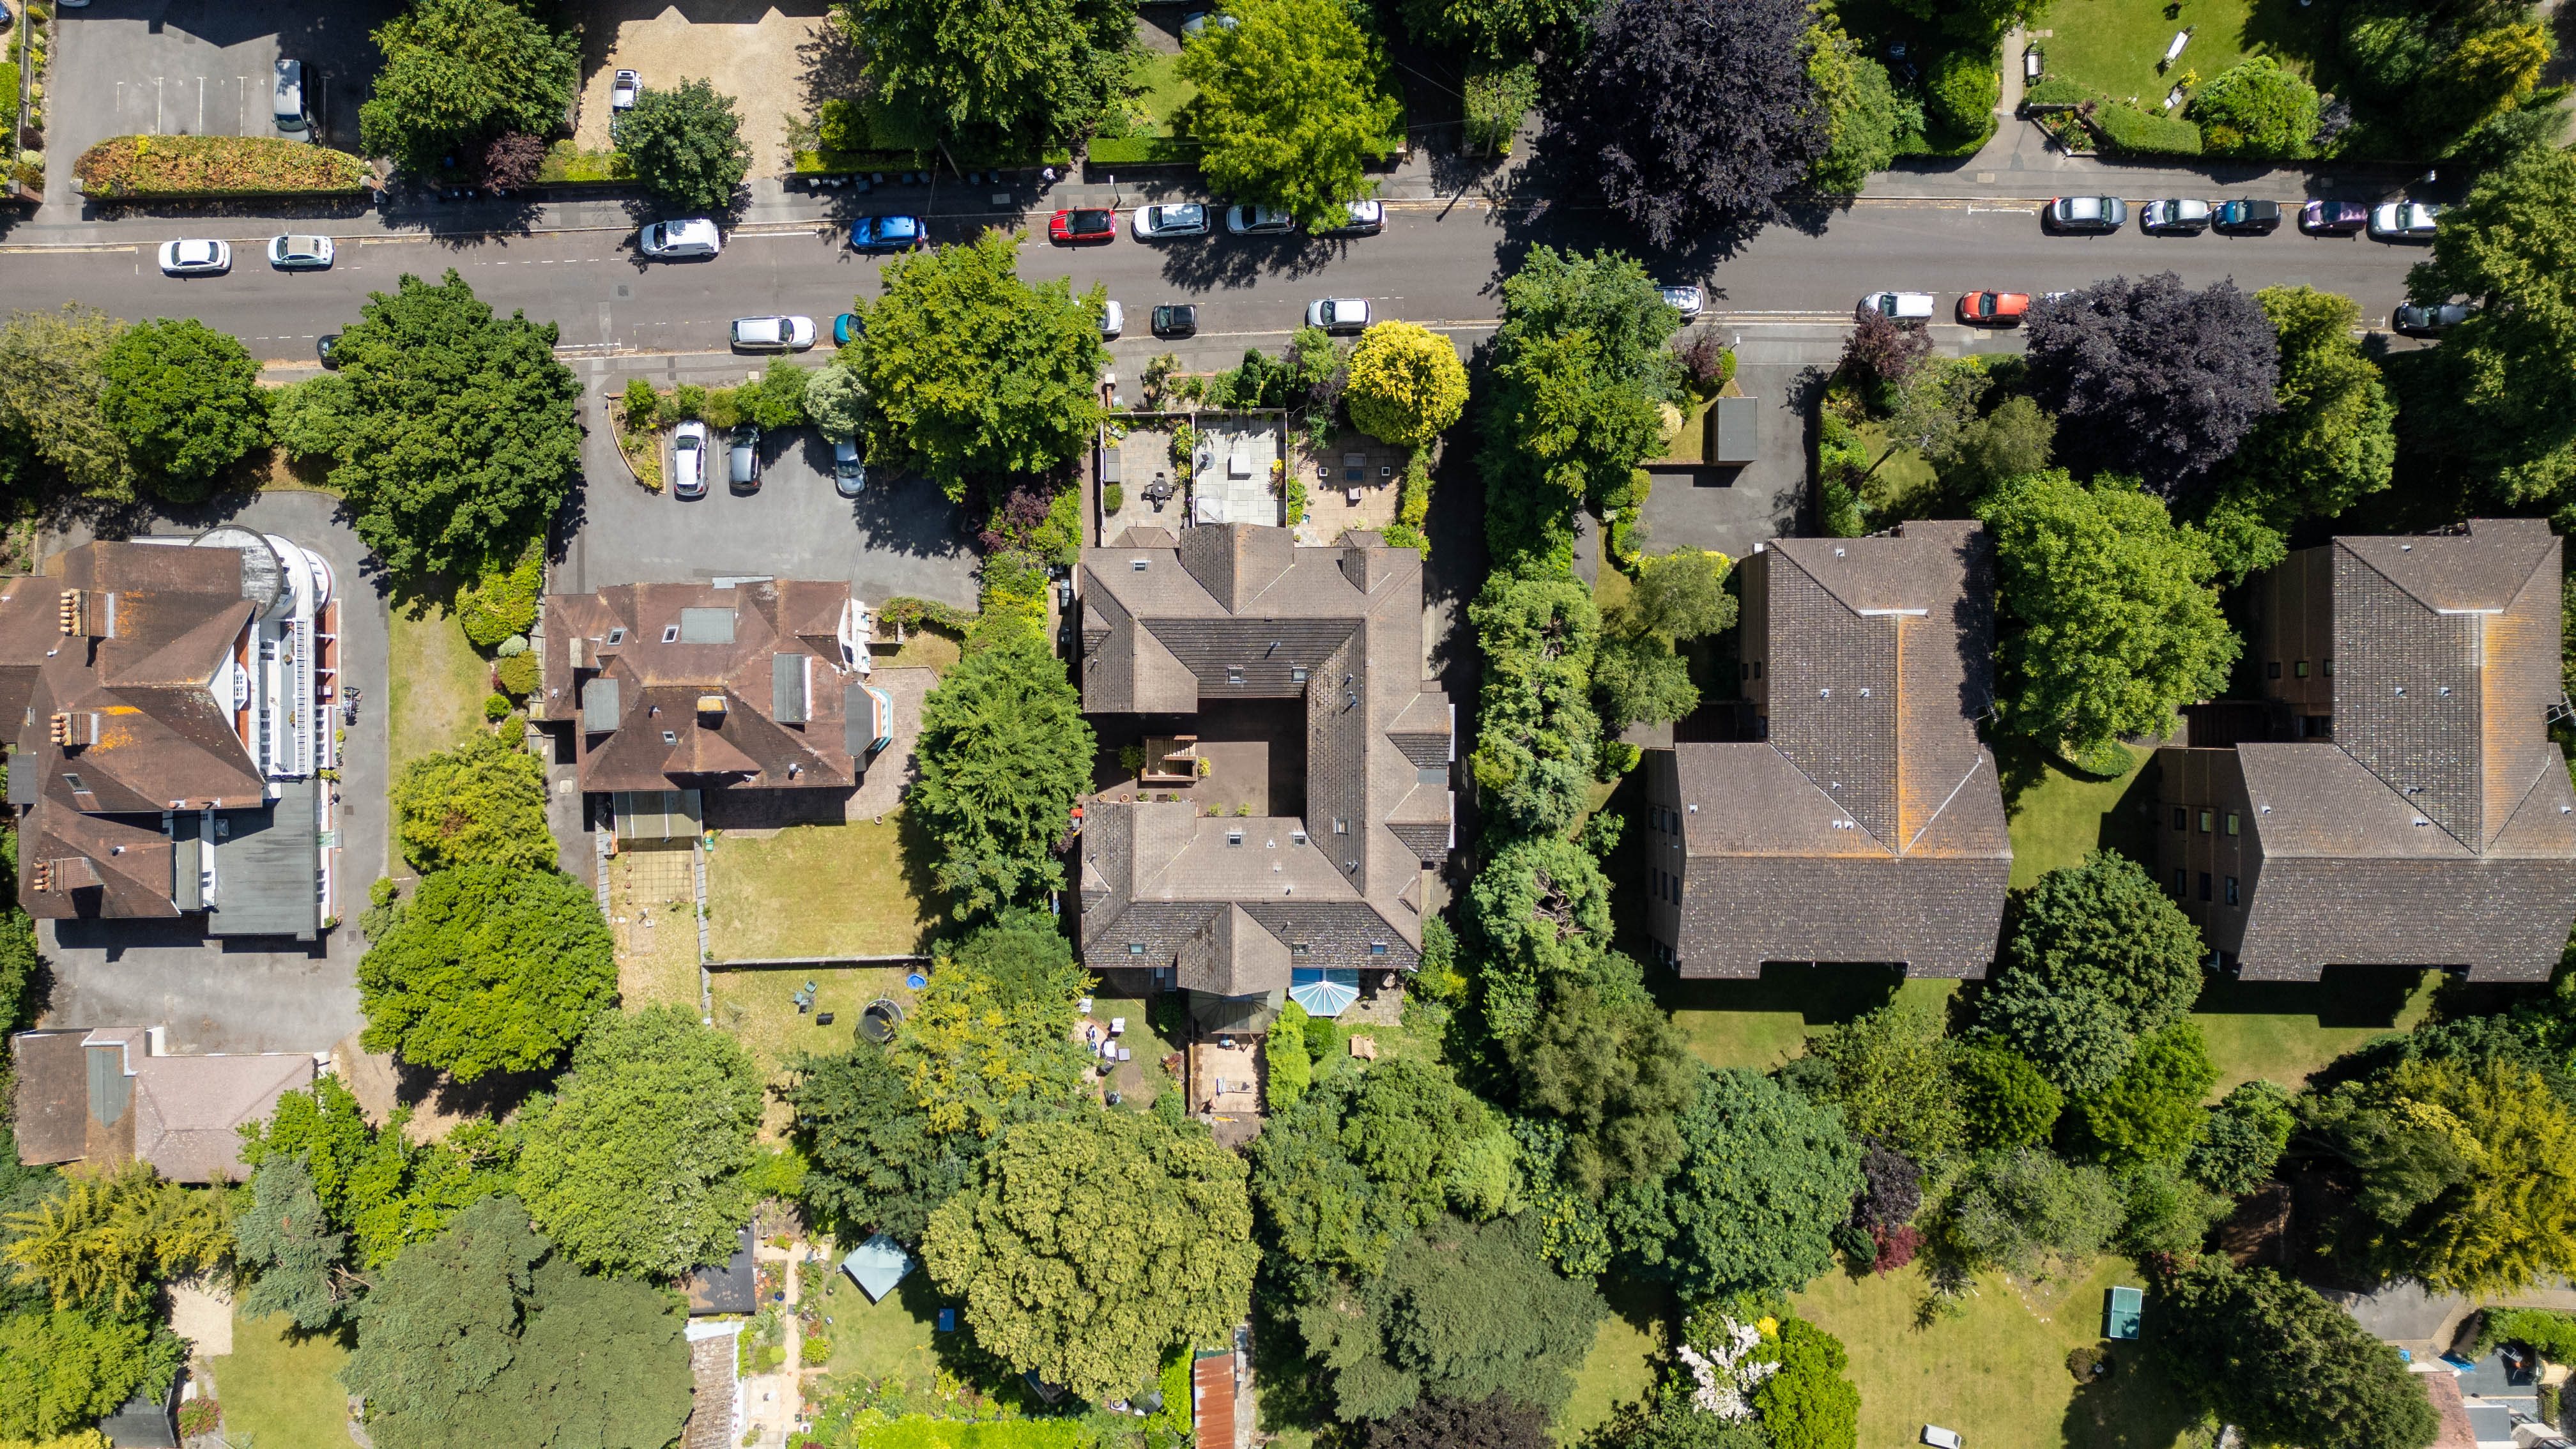
[[358,103],[381,57],[368,36],[399,0],[98,0],[64,10],[46,77],[46,204],[72,201],[72,157],[108,137],[276,137],[276,62],[307,64],[322,142],[358,150]]

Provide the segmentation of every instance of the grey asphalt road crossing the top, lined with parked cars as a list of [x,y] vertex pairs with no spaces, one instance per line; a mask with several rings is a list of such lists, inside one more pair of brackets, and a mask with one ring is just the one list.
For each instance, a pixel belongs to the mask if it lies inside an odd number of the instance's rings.
[[[971,224],[935,219],[933,235],[956,240]],[[742,229],[721,258],[703,263],[644,263],[631,232],[368,235],[348,237],[327,273],[276,273],[265,232],[237,229],[209,219],[173,222],[170,232],[232,240],[229,276],[160,276],[149,245],[21,250],[0,255],[0,291],[21,304],[80,299],[126,317],[193,315],[245,338],[252,356],[309,364],[319,335],[355,320],[366,291],[392,289],[404,271],[438,276],[453,266],[495,307],[554,320],[567,348],[592,353],[721,351],[729,320],[762,312],[804,312],[829,327],[853,294],[876,291],[878,276],[876,258],[850,253],[827,227]],[[1396,204],[1383,235],[1347,242],[1218,235],[1144,245],[1121,232],[1108,245],[1051,248],[1036,237],[1023,250],[1023,273],[1072,276],[1077,289],[1108,284],[1128,315],[1115,348],[1121,366],[1139,366],[1164,351],[1146,335],[1146,312],[1177,299],[1200,304],[1200,335],[1180,348],[1185,356],[1267,345],[1298,325],[1314,297],[1368,297],[1381,317],[1476,333],[1499,312],[1497,278],[1533,242],[1633,245],[1597,211],[1530,219],[1476,201]],[[1708,284],[1710,322],[1734,327],[1844,320],[1862,291],[1878,289],[1937,291],[1947,307],[1981,286],[2050,291],[2148,271],[2177,271],[2192,286],[2231,276],[2246,289],[2313,284],[2354,297],[2365,322],[2380,325],[2421,255],[2421,248],[2306,237],[2290,227],[2269,237],[2148,237],[2136,227],[2058,237],[2020,204],[1860,201],[1816,232],[1775,224],[1731,255],[1710,248],[1659,273]]]

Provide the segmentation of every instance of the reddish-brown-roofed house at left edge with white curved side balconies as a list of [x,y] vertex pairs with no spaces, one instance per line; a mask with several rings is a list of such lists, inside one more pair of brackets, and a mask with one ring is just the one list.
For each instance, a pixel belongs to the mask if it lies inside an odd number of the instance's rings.
[[234,526],[93,541],[0,580],[28,915],[317,938],[335,913],[337,619],[319,554]]

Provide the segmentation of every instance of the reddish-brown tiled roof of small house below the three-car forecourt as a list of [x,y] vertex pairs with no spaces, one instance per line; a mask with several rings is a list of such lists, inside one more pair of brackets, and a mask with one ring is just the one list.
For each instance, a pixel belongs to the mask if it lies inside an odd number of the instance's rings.
[[[842,732],[858,673],[840,668],[835,642],[848,601],[848,585],[811,580],[546,596],[538,714],[577,724],[585,792],[848,789],[860,773]],[[801,722],[778,719],[781,668],[801,670]],[[582,719],[595,688],[616,691],[616,730]]]

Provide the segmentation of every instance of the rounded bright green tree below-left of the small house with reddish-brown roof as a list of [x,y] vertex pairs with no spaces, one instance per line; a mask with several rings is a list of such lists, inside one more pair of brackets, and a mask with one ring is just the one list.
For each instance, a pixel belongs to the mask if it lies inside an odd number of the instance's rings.
[[366,1049],[464,1083],[554,1065],[616,990],[590,887],[502,864],[422,877],[358,962]]

